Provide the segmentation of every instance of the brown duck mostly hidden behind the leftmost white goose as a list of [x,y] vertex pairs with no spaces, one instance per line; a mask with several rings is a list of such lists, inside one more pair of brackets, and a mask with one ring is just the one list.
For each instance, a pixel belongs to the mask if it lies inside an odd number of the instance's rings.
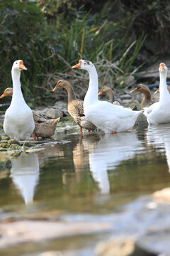
[[[13,88],[8,87],[4,90],[4,93],[0,96],[0,99],[6,96],[13,95]],[[33,110],[32,110],[33,111]],[[60,117],[57,119],[48,119],[44,117],[42,114],[36,114],[33,111],[33,119],[35,122],[35,129],[33,131],[34,140],[41,138],[50,138],[55,133],[55,129],[57,127],[57,123],[60,121]]]

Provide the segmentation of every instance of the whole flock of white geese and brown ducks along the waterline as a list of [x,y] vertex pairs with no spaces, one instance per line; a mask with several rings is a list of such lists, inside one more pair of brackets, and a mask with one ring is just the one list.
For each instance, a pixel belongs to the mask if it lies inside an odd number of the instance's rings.
[[[88,132],[100,129],[107,134],[125,132],[134,126],[137,117],[144,114],[148,124],[160,124],[170,122],[170,89],[166,85],[168,68],[164,63],[159,65],[159,101],[153,102],[152,95],[146,85],[137,85],[131,93],[141,92],[144,97],[141,103],[142,110],[131,110],[123,107],[115,101],[113,91],[109,87],[103,87],[98,93],[98,74],[95,65],[88,60],[79,60],[72,68],[86,70],[89,73],[89,88],[84,101],[78,100],[72,85],[67,80],[59,80],[53,89],[64,88],[68,94],[68,112],[82,129]],[[4,132],[11,139],[28,140],[38,137],[51,137],[55,133],[60,118],[47,119],[41,114],[35,114],[26,104],[21,91],[21,70],[27,70],[23,60],[13,63],[11,75],[13,88],[8,87],[0,98],[12,96],[11,105],[8,107],[4,118]],[[158,92],[158,90],[157,90]],[[98,100],[101,95],[107,94],[109,101]]]

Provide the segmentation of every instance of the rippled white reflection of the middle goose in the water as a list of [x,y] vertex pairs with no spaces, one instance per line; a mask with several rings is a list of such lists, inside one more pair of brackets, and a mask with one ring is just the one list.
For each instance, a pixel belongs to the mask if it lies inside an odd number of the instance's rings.
[[105,135],[96,142],[89,153],[89,166],[102,194],[110,193],[108,170],[115,169],[123,160],[133,158],[140,141],[135,132],[120,132],[113,136]]

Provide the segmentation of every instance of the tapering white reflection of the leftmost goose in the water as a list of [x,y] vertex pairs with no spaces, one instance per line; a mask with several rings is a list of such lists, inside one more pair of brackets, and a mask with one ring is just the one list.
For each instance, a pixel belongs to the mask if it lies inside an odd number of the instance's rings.
[[11,159],[11,178],[16,188],[21,192],[26,204],[33,202],[35,186],[39,181],[39,162],[36,153],[21,153]]

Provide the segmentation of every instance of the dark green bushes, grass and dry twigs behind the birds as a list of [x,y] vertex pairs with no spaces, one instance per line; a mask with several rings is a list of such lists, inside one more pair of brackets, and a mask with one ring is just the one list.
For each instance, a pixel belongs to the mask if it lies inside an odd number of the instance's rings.
[[95,63],[102,84],[125,87],[127,75],[169,55],[169,21],[168,0],[1,0],[1,92],[17,59],[33,107],[66,97],[51,92],[57,79],[71,79],[78,96],[86,91],[86,73],[70,68],[80,58]]

